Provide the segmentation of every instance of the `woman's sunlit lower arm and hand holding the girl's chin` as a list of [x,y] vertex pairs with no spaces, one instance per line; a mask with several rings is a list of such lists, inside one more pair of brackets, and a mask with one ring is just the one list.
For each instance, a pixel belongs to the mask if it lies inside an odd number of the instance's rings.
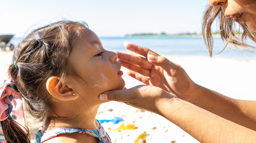
[[[140,85],[107,91],[100,95],[100,100],[120,101],[156,113],[176,124],[199,142],[255,142],[255,131],[180,100],[159,87]],[[233,115],[240,116],[237,112]],[[255,123],[249,119],[245,120],[248,121],[250,127]]]

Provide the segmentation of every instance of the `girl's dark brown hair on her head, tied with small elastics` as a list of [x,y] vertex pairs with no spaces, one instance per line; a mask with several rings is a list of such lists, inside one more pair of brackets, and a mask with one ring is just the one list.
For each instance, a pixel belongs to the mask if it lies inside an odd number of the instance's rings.
[[75,74],[68,57],[87,27],[85,22],[58,21],[33,30],[15,48],[12,63],[16,61],[17,67],[11,64],[8,73],[24,98],[26,110],[39,121],[51,118],[51,112],[57,114],[46,82],[52,76],[62,81],[67,73]]

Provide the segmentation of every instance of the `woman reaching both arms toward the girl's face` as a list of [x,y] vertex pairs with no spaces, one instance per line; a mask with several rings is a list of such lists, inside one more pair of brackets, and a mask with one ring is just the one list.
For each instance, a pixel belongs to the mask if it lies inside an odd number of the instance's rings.
[[[209,0],[209,3],[203,20],[209,55],[212,56],[213,47],[210,27],[216,17],[226,44],[254,51],[243,39],[249,37],[256,42],[256,1]],[[234,21],[243,29],[240,38],[234,34]],[[120,101],[157,113],[200,142],[256,142],[256,101],[232,99],[199,86],[181,66],[165,57],[137,45],[125,43],[125,47],[146,57],[118,53],[123,66],[129,69],[128,74],[152,86],[108,91],[100,95],[101,100]]]

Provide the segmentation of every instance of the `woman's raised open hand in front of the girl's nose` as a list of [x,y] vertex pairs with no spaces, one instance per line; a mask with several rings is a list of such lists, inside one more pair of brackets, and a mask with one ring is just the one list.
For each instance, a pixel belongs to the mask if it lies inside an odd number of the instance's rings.
[[178,64],[138,45],[124,43],[126,49],[144,57],[117,53],[118,61],[129,69],[127,74],[146,85],[160,87],[179,98],[190,101],[196,90],[200,88]]

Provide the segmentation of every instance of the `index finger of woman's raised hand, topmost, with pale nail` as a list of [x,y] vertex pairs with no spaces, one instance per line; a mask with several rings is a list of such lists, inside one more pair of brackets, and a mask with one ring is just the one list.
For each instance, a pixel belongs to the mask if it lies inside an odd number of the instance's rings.
[[145,47],[141,47],[141,46],[138,46],[138,45],[135,45],[135,44],[131,44],[131,43],[128,43],[128,42],[124,42],[123,43],[124,47],[132,52],[135,52],[141,56],[144,56],[144,57],[147,57],[148,54],[150,55],[154,55],[154,56],[160,56],[158,55],[157,53],[149,50],[148,48],[145,48]]

